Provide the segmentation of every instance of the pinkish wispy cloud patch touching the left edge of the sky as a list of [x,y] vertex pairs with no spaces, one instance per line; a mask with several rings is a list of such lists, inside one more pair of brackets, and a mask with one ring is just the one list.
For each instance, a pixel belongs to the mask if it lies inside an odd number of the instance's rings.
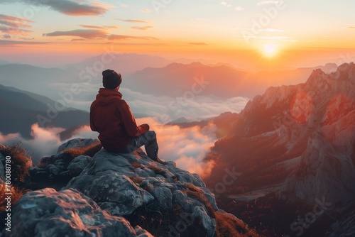
[[32,31],[23,29],[31,28],[31,25],[28,23],[33,23],[33,21],[29,21],[25,18],[0,14],[0,32],[5,33],[3,38],[9,38],[9,36],[11,38],[11,35],[29,35]]

